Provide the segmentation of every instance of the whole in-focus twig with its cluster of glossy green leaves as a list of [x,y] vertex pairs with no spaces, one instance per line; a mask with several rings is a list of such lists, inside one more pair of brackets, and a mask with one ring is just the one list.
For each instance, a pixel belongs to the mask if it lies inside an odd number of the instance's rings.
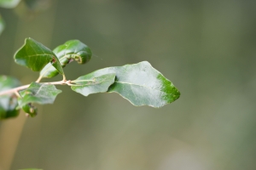
[[[50,50],[42,43],[26,38],[25,44],[15,53],[15,62],[32,71],[40,71],[38,80],[20,86],[14,77],[0,76],[0,119],[18,116],[19,110],[29,116],[37,115],[34,103],[53,104],[61,90],[55,85],[68,85],[79,94],[117,93],[132,105],[149,105],[159,108],[179,98],[180,93],[148,61],[134,65],[113,66],[67,80],[63,68],[73,61],[88,63],[91,50],[79,40],[70,40]],[[61,74],[60,82],[40,82]]]

